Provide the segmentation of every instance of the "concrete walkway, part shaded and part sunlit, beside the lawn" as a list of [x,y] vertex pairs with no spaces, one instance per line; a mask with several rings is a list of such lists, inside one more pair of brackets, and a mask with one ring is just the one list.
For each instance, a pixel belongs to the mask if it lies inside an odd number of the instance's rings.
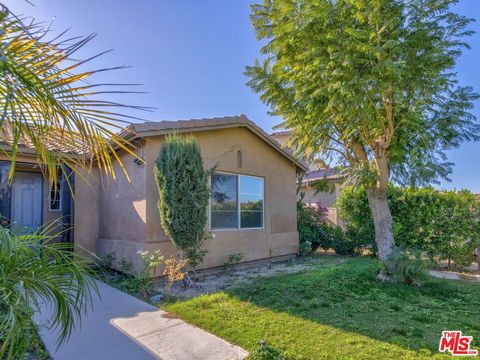
[[40,336],[55,360],[228,360],[248,353],[204,330],[128,294],[97,282],[101,299],[59,349],[56,332],[49,329],[50,306],[35,315]]

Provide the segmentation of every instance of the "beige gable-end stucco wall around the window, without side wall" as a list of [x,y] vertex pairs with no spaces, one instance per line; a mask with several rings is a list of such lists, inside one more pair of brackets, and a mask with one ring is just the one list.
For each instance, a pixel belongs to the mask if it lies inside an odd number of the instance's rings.
[[[244,253],[244,261],[293,254],[298,251],[296,222],[296,169],[294,164],[245,128],[193,133],[206,168],[264,178],[265,226],[255,230],[213,231],[205,245],[208,254],[201,267],[223,265],[232,253]],[[164,255],[174,253],[165,236],[157,209],[158,191],[151,164],[158,156],[163,136],[150,137],[145,145],[147,233],[146,242],[160,247]],[[237,153],[242,152],[238,167]],[[153,246],[155,247],[155,246]]]

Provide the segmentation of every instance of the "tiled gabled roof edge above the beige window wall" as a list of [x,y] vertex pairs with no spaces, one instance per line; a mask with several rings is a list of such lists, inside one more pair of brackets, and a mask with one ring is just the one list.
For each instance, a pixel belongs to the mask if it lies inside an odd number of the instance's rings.
[[258,127],[253,121],[249,120],[245,115],[225,116],[209,119],[132,123],[127,126],[127,128],[120,133],[120,135],[131,141],[136,138],[167,135],[173,131],[185,133],[228,128],[246,128],[250,130],[288,160],[293,162],[298,169],[302,171],[308,170],[308,167],[303,163],[303,161],[296,159],[290,151],[282,148],[275,139]]

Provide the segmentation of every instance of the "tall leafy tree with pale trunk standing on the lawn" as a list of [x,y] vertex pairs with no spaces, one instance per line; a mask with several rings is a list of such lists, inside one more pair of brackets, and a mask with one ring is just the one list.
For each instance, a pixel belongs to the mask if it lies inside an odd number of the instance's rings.
[[[454,0],[264,0],[252,6],[263,63],[247,67],[291,145],[365,186],[378,254],[394,249],[390,180],[447,178],[445,151],[477,140],[478,98],[455,78],[472,21]],[[383,277],[385,274],[380,274]]]

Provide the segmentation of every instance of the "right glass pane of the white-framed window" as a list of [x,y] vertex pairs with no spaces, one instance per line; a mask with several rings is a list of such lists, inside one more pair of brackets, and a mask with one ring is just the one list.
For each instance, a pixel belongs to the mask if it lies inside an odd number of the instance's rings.
[[263,179],[240,176],[240,225],[263,227]]

